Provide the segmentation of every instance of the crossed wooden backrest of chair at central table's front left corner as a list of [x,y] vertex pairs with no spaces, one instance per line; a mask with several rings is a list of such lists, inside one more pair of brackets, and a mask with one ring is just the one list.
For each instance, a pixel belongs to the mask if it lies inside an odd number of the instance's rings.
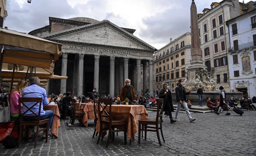
[[[105,106],[103,106],[103,103],[105,104]],[[111,105],[112,98],[98,98],[98,111],[100,122],[103,117],[108,118],[110,123],[112,122]],[[107,106],[109,106],[108,112],[106,111]]]

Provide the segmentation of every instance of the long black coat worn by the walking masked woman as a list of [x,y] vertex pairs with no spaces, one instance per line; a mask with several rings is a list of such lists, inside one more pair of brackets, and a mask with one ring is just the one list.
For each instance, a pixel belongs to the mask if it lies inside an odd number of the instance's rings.
[[[169,96],[167,94],[164,94],[165,91],[166,90],[162,88],[159,91],[158,97],[164,99],[164,105],[163,105],[164,110],[174,111],[173,104],[172,104],[171,90],[168,89],[168,92],[170,93]],[[170,101],[170,104],[168,104],[169,103],[168,101]]]

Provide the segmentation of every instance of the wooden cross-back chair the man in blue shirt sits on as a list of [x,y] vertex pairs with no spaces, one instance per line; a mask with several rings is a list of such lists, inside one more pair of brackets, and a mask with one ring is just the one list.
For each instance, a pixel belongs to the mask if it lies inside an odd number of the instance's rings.
[[[29,104],[27,102],[29,102]],[[38,103],[39,103],[39,109],[38,109],[38,114],[37,114],[32,110],[32,108],[34,106],[38,105]],[[49,119],[40,120],[41,106],[42,106],[42,98],[41,97],[20,97],[19,98],[19,126],[20,126],[20,128],[19,128],[19,142],[18,142],[17,148],[19,148],[19,145],[21,143],[22,132],[23,132],[22,126],[27,126],[26,129],[28,129],[28,126],[36,126],[36,135],[35,135],[34,148],[36,147],[38,132],[46,130],[46,142],[48,141],[48,123],[49,123]],[[22,113],[21,112],[21,107],[23,107],[23,109],[26,107],[27,110]],[[27,113],[28,111],[32,112],[33,115],[25,115],[25,113]],[[35,121],[28,121],[28,120],[24,120],[24,117],[25,118],[36,118],[36,120]],[[46,127],[39,130],[39,125],[45,125]],[[28,135],[28,134],[26,134],[26,135]]]

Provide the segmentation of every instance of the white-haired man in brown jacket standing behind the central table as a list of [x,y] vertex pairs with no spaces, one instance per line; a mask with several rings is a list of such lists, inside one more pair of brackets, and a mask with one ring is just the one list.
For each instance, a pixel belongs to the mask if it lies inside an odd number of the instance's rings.
[[131,80],[130,79],[126,78],[124,80],[124,83],[125,83],[125,85],[122,87],[121,93],[120,93],[121,103],[123,104],[123,101],[127,97],[129,99],[129,105],[132,105],[133,102],[135,102],[134,88],[131,85]]

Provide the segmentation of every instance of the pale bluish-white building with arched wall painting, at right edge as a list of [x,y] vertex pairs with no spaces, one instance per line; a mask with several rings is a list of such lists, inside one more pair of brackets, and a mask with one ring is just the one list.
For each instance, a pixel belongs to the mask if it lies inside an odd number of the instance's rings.
[[256,9],[226,22],[230,45],[228,60],[231,89],[245,96],[256,92]]

